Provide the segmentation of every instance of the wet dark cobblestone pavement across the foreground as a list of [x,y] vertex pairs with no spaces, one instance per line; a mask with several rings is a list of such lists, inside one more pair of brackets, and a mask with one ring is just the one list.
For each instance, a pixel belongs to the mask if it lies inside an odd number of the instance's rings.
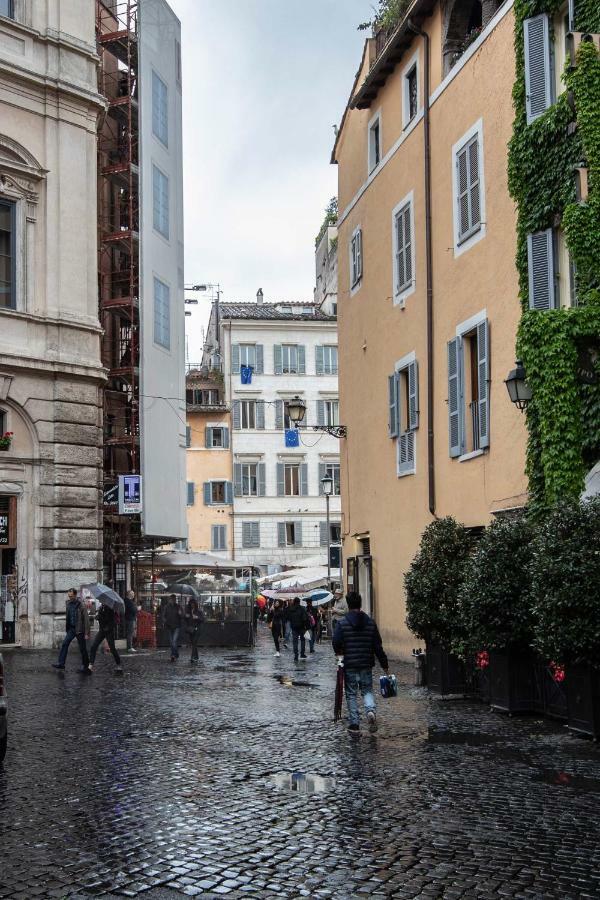
[[[295,667],[266,629],[198,668],[54,658],[5,654],[0,897],[600,897],[600,749],[558,725],[431,700],[405,668],[357,739],[329,648]],[[335,783],[273,778],[298,772]]]

